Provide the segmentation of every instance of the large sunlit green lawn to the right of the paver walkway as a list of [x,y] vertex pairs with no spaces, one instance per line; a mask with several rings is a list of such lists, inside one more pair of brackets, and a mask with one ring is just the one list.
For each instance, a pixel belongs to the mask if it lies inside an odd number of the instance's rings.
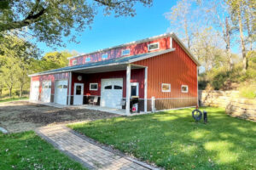
[[208,124],[195,125],[184,109],[70,127],[166,169],[256,169],[256,123],[203,109]]

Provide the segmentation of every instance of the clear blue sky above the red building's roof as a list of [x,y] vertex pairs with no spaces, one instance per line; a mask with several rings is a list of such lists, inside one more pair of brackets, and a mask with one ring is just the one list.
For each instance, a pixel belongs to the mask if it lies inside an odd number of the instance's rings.
[[[166,20],[164,14],[175,4],[176,1],[171,0],[154,0],[153,6],[150,8],[138,4],[135,17],[115,18],[104,16],[99,11],[91,29],[88,28],[84,32],[80,32],[81,36],[77,37],[79,44],[67,43],[66,48],[56,47],[56,50],[75,50],[79,54],[83,54],[166,33],[170,22]],[[44,54],[54,50],[44,43],[38,42],[37,44],[38,48],[44,51]]]

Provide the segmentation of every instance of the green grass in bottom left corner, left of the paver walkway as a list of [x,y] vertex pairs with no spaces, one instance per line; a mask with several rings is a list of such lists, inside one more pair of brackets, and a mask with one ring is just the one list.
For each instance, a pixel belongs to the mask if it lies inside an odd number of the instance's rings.
[[0,169],[84,169],[32,131],[0,133]]

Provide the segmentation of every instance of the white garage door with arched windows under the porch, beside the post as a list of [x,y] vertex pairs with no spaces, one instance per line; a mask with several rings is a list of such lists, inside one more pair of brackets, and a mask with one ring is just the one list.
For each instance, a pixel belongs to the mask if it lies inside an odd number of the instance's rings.
[[123,79],[102,79],[101,106],[121,108],[123,98]]

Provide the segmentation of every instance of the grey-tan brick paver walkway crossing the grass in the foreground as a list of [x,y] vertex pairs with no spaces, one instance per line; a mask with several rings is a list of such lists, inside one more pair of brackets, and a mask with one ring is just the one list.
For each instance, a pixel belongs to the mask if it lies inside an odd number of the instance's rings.
[[37,133],[56,148],[90,169],[156,169],[128,156],[104,148],[63,125],[41,127]]

